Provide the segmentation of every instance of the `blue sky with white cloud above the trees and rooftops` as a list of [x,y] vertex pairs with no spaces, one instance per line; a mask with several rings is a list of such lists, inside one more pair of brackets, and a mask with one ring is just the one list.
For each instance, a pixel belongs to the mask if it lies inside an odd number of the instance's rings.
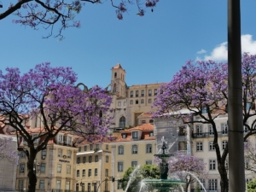
[[[3,9],[15,0],[4,0]],[[143,1],[143,0],[142,0]],[[242,50],[256,54],[256,1],[241,0]],[[227,1],[160,0],[152,13],[136,15],[128,7],[117,20],[109,0],[86,3],[76,20],[79,29],[63,32],[65,39],[44,39],[48,31],[13,24],[13,15],[0,20],[0,69],[20,67],[26,72],[38,63],[73,67],[79,82],[89,87],[110,83],[111,67],[120,63],[126,83],[168,82],[192,59],[226,59]]]

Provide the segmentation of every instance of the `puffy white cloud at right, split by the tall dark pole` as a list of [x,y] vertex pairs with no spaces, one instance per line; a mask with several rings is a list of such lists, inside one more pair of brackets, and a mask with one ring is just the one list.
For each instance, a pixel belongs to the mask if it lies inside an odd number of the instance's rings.
[[[218,44],[211,52],[211,55],[205,55],[204,60],[214,60],[214,61],[227,61],[228,60],[228,43],[224,42]],[[201,49],[204,50],[204,49]],[[201,54],[198,51],[197,54]],[[253,35],[246,34],[241,35],[241,53],[247,52],[251,55],[256,55],[256,41],[253,40]]]

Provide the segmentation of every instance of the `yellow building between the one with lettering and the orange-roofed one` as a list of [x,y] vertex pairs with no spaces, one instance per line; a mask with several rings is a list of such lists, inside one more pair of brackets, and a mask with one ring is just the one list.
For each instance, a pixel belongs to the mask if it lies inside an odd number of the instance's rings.
[[109,143],[78,144],[76,191],[109,192],[111,175],[111,146]]

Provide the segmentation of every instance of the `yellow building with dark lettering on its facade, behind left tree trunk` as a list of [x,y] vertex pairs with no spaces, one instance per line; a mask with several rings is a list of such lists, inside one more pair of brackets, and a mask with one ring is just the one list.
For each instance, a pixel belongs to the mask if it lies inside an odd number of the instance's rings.
[[[43,128],[28,129],[32,136],[37,136]],[[73,145],[74,136],[67,131],[60,131],[56,137],[49,140],[47,148],[37,154],[35,171],[38,177],[38,192],[69,192],[76,183],[76,154],[78,148]],[[20,146],[26,147],[26,142],[20,137]],[[39,140],[35,143],[40,142]],[[19,152],[20,160],[17,168],[16,190],[26,191],[28,187],[26,154]]]

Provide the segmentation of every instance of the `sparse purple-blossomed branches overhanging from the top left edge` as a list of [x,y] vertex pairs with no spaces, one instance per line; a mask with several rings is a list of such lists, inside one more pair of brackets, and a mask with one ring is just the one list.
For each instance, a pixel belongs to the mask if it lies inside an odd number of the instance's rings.
[[[116,11],[117,18],[123,19],[123,14],[127,11],[128,6],[135,4],[137,6],[137,15],[143,16],[145,7],[153,8],[159,0],[128,0],[128,1],[113,1],[108,0]],[[0,20],[8,17],[9,15],[15,15],[16,20],[13,20],[16,24],[23,26],[30,26],[33,29],[37,29],[40,26],[49,29],[48,38],[54,32],[54,26],[59,27],[55,32],[55,37],[62,38],[62,31],[68,27],[79,27],[80,21],[75,20],[75,15],[78,15],[85,3],[101,4],[105,3],[102,0],[8,0],[4,1],[7,7],[4,7],[0,2],[3,12],[0,13]],[[0,8],[1,8],[0,7]]]

